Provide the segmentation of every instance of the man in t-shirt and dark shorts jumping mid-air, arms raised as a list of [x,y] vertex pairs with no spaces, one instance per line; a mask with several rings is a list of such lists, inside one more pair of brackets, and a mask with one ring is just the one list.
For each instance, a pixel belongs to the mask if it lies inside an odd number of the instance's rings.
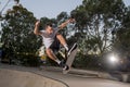
[[[56,62],[63,70],[67,70],[68,66],[64,63],[64,61],[60,61],[57,57],[54,54],[55,51],[58,51],[60,44],[67,50],[69,53],[68,46],[63,38],[63,36],[58,33],[60,29],[64,28],[68,23],[75,22],[74,18],[69,18],[62,23],[58,27],[54,28],[51,23],[46,25],[46,29],[39,30],[40,21],[37,21],[35,24],[34,33],[36,35],[40,35],[42,37],[42,42],[46,46],[47,55]],[[72,50],[72,49],[70,49]]]

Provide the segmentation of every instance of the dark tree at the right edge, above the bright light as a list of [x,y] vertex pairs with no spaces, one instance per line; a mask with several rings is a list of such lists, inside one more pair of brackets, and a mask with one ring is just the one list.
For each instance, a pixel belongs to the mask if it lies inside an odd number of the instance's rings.
[[121,27],[116,33],[115,49],[121,53],[130,53],[130,7],[126,9]]

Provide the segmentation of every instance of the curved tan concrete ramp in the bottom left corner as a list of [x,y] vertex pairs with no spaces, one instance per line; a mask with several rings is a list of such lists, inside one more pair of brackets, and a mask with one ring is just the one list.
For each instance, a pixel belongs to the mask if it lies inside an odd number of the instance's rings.
[[0,87],[66,87],[66,85],[29,72],[0,69]]

